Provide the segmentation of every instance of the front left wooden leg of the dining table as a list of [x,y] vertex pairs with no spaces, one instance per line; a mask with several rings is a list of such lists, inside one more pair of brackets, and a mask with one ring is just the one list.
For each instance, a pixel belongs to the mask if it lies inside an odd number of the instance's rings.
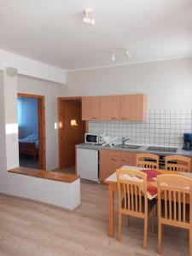
[[109,236],[114,236],[114,192],[113,187],[108,185],[108,207],[109,207]]

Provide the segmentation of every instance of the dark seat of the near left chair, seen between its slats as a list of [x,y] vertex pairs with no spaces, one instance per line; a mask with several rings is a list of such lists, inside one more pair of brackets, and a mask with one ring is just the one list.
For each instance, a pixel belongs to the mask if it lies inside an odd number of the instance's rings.
[[[135,197],[136,195],[133,195],[133,201],[134,201],[134,209],[132,209],[132,203],[131,203],[131,197],[130,197],[130,210],[131,211],[136,211],[136,206],[135,206]],[[154,198],[152,200],[148,200],[148,214],[150,212],[152,212],[155,204],[157,203],[157,200]],[[144,203],[144,196],[142,196],[142,212],[145,212],[145,203]],[[125,208],[125,198],[122,200],[122,207]],[[137,207],[138,207],[138,211],[140,211],[139,209],[139,196],[137,195]],[[128,195],[126,195],[126,209],[128,209]]]

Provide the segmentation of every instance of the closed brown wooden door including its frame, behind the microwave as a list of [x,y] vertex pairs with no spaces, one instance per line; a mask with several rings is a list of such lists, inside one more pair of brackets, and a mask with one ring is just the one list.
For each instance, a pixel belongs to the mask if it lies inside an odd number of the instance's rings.
[[82,121],[81,98],[59,98],[59,169],[75,173],[75,145],[84,143],[85,121]]

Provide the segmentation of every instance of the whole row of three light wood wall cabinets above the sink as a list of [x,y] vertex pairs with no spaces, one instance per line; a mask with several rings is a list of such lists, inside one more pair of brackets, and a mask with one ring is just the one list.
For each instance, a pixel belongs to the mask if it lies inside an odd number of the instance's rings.
[[146,96],[143,94],[84,96],[82,97],[82,119],[144,121]]

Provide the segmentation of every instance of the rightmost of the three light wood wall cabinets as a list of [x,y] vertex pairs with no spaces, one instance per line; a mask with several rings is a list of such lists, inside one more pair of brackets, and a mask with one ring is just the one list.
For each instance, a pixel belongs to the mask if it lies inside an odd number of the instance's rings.
[[146,119],[146,96],[143,94],[120,96],[120,119],[144,121]]

